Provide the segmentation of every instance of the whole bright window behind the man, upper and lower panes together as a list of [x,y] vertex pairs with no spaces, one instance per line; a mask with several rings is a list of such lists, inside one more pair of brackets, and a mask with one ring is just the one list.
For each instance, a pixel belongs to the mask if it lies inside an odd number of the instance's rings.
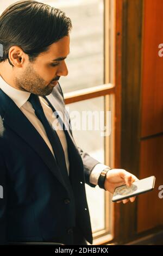
[[[70,55],[66,59],[68,76],[60,78],[66,107],[70,113],[77,145],[92,157],[112,166],[113,135],[101,136],[101,130],[77,129],[73,112],[103,112],[98,121],[109,126],[108,113],[114,118],[114,1],[56,0],[42,1],[65,11],[72,20]],[[110,112],[109,112],[110,111]],[[86,119],[83,124],[85,125]],[[73,122],[74,121],[74,122]],[[95,120],[94,120],[95,121]],[[113,127],[113,122],[111,122]],[[86,185],[93,237],[111,234],[109,192]],[[108,239],[109,240],[109,239]]]

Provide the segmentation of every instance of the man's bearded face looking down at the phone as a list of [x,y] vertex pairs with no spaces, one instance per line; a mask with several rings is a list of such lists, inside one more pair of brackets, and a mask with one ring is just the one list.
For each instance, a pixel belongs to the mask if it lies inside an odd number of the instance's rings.
[[[48,51],[40,53],[34,62],[28,60],[15,76],[16,87],[41,96],[51,94],[60,76],[68,75],[64,59],[69,53],[70,36],[68,35],[52,44]],[[56,60],[58,58],[63,59]]]

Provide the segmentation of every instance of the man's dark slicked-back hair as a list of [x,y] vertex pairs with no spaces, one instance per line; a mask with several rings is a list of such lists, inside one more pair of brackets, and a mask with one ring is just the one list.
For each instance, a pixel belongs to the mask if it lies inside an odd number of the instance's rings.
[[[0,44],[3,57],[9,59],[11,46],[19,46],[33,62],[41,52],[68,35],[72,29],[70,18],[60,9],[37,1],[18,1],[5,9],[0,16]],[[12,65],[13,66],[13,65]]]

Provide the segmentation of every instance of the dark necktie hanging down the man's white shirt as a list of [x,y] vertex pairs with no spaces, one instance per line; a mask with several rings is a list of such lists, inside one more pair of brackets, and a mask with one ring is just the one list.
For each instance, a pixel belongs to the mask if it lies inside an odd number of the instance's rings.
[[59,169],[61,170],[62,176],[64,176],[64,178],[68,177],[64,150],[62,148],[57,132],[52,129],[51,125],[49,125],[49,122],[43,112],[39,97],[35,94],[30,94],[28,101],[32,104],[35,110],[35,115],[37,116],[37,118],[39,118],[43,127],[45,128],[47,137],[52,145],[55,158],[58,163]]

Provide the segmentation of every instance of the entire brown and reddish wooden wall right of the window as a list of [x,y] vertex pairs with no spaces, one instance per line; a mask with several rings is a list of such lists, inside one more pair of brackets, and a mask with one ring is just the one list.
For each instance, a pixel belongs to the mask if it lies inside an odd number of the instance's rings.
[[121,168],[155,189],[120,206],[123,244],[163,227],[163,0],[123,0]]

